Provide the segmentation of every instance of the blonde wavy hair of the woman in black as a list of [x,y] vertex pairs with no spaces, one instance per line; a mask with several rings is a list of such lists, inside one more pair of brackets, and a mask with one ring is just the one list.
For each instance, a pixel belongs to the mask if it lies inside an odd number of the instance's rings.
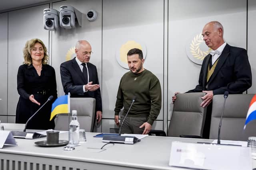
[[42,64],[47,64],[48,63],[48,55],[47,55],[47,49],[43,43],[43,41],[41,41],[38,38],[35,39],[30,39],[26,42],[26,45],[23,49],[23,57],[24,57],[24,62],[23,64],[32,64],[32,58],[31,58],[31,50],[34,48],[36,43],[40,43],[43,48],[44,48],[44,58],[42,59]]

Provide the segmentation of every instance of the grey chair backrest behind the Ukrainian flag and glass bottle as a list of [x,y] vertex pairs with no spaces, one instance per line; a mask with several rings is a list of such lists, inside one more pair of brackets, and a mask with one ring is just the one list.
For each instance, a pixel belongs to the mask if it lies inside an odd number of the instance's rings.
[[[77,119],[80,129],[86,132],[93,131],[94,115],[95,115],[95,99],[94,98],[70,98],[70,111],[77,110]],[[70,117],[70,121],[71,121]],[[58,114],[55,123],[55,129],[60,131],[68,131],[68,115]]]

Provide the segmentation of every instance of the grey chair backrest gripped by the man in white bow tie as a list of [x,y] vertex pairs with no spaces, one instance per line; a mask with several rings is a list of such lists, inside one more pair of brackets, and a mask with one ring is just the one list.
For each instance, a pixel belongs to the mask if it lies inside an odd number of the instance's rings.
[[205,93],[177,94],[174,102],[172,117],[168,128],[168,136],[180,135],[202,136],[206,107],[200,106]]

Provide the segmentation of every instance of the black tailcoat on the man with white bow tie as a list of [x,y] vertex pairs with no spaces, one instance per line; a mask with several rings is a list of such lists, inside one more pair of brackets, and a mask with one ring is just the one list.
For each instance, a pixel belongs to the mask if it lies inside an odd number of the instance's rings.
[[252,71],[246,50],[226,44],[206,88],[210,58],[210,54],[204,58],[198,85],[188,93],[213,90],[214,95],[224,94],[225,91],[230,94],[242,94],[252,86]]

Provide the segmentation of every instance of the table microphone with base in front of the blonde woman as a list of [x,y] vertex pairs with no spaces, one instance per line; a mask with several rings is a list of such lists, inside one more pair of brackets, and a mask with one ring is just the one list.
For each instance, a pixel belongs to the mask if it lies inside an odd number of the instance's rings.
[[26,127],[28,122],[34,117],[34,115],[36,115],[36,113],[38,113],[38,111],[44,107],[44,105],[49,102],[50,100],[53,99],[53,96],[50,96],[47,101],[28,119],[28,121],[25,124],[25,127],[22,131],[12,131],[12,135],[13,137],[17,137],[17,138],[26,138],[26,139],[34,139],[34,138],[38,138],[38,137],[46,137],[45,135],[41,135],[39,133],[35,133],[35,132],[26,132]]

